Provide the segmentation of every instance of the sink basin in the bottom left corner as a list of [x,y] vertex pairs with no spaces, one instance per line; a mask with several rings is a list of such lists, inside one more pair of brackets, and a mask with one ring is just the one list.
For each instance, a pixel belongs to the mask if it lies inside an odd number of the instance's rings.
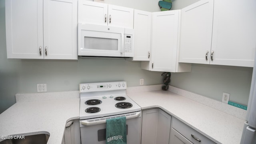
[[49,134],[34,134],[23,137],[22,136],[22,134],[12,135],[12,139],[3,140],[0,142],[0,144],[47,144],[47,141],[50,137]]

